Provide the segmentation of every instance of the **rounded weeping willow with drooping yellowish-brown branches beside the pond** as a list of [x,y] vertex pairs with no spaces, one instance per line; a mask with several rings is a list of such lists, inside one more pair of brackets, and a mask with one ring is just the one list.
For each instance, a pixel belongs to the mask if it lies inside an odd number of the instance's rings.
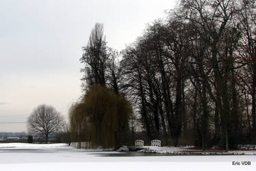
[[131,105],[123,96],[103,86],[90,86],[81,103],[70,109],[73,141],[119,148],[129,133],[130,114]]

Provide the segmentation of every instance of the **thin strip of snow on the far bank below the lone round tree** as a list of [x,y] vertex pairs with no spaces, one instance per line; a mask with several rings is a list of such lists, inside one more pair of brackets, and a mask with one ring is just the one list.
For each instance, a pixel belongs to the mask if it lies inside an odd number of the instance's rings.
[[64,148],[68,144],[30,144],[30,143],[0,143],[0,149],[6,148]]

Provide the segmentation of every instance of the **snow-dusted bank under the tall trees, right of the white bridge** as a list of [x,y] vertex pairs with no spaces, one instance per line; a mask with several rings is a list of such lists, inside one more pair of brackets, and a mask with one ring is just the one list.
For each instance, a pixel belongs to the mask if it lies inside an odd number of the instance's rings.
[[256,155],[256,150],[230,150],[225,152],[224,150],[191,150],[191,146],[185,147],[158,147],[158,146],[145,146],[142,153],[160,153],[160,154],[172,154],[172,155]]

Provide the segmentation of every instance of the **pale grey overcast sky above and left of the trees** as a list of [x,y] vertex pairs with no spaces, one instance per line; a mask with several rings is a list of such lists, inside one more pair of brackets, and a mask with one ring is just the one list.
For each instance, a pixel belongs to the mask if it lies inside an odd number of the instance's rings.
[[81,95],[79,58],[94,23],[107,45],[125,48],[172,0],[0,0],[0,132],[27,131],[40,104],[66,118]]

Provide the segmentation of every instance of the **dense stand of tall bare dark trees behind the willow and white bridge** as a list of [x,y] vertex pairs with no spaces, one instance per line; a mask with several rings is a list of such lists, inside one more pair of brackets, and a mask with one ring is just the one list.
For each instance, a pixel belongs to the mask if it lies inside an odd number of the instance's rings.
[[90,66],[86,83],[129,99],[132,118],[151,139],[170,143],[170,137],[177,146],[192,136],[203,150],[255,143],[255,15],[252,0],[181,0],[165,21],[151,23],[122,51],[119,63],[105,43],[98,71],[92,55],[83,55],[81,62]]

